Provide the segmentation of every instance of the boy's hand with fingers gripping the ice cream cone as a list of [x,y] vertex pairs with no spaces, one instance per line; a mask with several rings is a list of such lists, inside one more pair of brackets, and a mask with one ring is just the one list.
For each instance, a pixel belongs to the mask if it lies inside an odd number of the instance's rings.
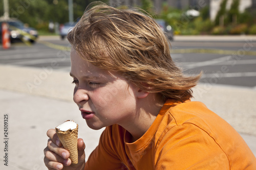
[[69,151],[62,147],[62,144],[56,134],[55,129],[49,129],[47,131],[48,144],[44,150],[45,158],[44,162],[48,169],[84,169],[86,155],[84,149],[86,145],[81,138],[78,139],[78,164],[76,167],[71,165],[71,159],[69,158]]

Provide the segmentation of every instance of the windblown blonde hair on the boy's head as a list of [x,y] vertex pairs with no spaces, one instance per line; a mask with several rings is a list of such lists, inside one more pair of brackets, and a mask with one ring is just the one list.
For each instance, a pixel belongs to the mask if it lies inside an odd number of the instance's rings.
[[68,40],[85,60],[117,71],[142,90],[160,93],[164,100],[191,98],[191,88],[200,79],[200,75],[182,73],[156,21],[138,9],[93,3],[69,32]]

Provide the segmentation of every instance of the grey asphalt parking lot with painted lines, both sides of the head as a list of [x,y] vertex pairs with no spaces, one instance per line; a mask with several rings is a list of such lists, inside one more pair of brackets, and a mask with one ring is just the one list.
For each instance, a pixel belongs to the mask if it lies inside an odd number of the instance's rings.
[[[171,44],[172,58],[186,74],[204,72],[202,83],[256,86],[255,37],[184,40],[181,36]],[[15,43],[9,50],[1,50],[0,63],[69,71],[70,47],[67,39],[61,40],[59,36],[40,37],[31,46]]]

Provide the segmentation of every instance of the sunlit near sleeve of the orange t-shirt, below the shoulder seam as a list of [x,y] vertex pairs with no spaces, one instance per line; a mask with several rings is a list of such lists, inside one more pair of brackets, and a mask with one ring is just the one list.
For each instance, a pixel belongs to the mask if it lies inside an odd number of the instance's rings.
[[225,152],[196,125],[177,125],[163,136],[155,169],[230,169]]

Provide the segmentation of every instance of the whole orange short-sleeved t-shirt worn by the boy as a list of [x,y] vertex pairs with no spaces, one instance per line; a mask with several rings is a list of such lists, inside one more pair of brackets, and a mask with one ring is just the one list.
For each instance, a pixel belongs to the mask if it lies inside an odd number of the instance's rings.
[[146,133],[131,134],[112,125],[84,169],[256,169],[256,158],[243,138],[201,102],[162,107]]

